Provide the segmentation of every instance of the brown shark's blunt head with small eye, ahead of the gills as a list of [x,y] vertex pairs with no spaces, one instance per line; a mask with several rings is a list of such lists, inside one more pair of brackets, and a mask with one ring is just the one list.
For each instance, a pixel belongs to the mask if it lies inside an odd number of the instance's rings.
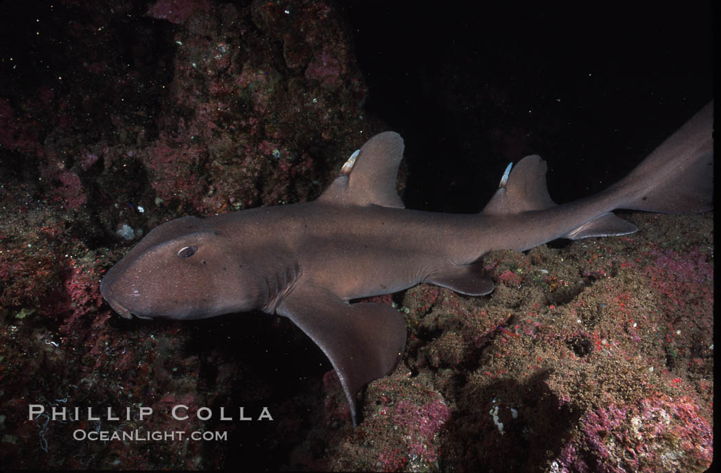
[[127,319],[203,319],[262,305],[263,278],[206,222],[185,217],[153,229],[108,270],[102,296]]

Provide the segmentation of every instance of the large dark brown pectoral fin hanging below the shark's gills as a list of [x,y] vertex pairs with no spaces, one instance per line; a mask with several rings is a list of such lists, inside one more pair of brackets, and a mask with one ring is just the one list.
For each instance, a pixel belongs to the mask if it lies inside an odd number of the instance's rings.
[[291,319],[329,358],[356,423],[355,394],[391,373],[405,347],[406,325],[391,306],[348,304],[322,288],[295,288],[276,312]]

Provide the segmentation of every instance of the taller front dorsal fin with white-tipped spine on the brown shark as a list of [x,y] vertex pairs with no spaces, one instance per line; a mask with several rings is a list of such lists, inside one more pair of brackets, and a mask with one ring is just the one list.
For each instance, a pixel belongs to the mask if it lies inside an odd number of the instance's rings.
[[343,164],[340,176],[318,198],[333,205],[381,205],[404,208],[396,190],[403,138],[394,131],[366,141]]

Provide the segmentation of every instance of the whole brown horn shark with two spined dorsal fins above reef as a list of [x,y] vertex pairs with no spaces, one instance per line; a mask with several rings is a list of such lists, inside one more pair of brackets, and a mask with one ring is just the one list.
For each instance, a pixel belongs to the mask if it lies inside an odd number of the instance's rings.
[[380,133],[313,202],[252,208],[157,226],[107,271],[100,291],[122,317],[202,319],[259,309],[291,319],[329,358],[356,421],[356,394],[397,366],[406,325],[396,309],[353,299],[420,283],[469,296],[493,290],[482,257],[554,239],[630,234],[611,211],[712,208],[713,102],[627,177],[557,205],[546,163],[509,164],[483,211],[408,210],[396,191],[403,140]]

